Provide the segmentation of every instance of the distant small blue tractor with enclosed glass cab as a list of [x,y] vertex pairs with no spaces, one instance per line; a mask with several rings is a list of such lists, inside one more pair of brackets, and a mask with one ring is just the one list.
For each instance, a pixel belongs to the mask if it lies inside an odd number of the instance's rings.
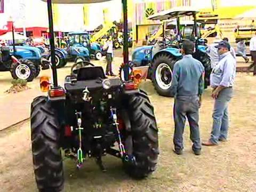
[[90,43],[90,34],[87,32],[73,32],[68,34],[69,47],[67,48],[68,59],[75,60],[87,60],[89,61],[92,57],[100,60],[103,55],[106,55],[100,44]]

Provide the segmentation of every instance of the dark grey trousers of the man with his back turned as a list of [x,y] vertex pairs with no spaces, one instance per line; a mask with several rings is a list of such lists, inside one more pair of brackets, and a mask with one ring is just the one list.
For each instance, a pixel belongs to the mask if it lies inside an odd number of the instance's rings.
[[183,132],[188,119],[190,127],[190,139],[193,142],[192,149],[201,149],[199,133],[199,97],[198,96],[178,96],[174,100],[174,137],[173,143],[175,150],[183,149]]

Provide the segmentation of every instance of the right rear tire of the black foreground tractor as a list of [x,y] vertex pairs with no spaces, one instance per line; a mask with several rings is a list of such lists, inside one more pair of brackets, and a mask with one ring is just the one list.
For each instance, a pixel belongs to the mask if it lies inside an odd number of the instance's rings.
[[158,129],[147,93],[140,91],[131,95],[128,102],[135,163],[124,161],[124,169],[134,179],[148,177],[156,170],[158,151]]

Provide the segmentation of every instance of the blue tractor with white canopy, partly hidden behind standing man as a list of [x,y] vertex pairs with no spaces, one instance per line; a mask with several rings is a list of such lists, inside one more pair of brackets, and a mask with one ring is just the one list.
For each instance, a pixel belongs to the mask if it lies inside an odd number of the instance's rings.
[[[155,45],[143,46],[135,49],[132,54],[133,66],[147,66],[149,65],[148,78],[151,79],[153,85],[159,95],[170,97],[170,88],[172,82],[172,70],[174,63],[182,58],[180,53],[180,47],[182,40],[189,38],[195,42],[194,58],[201,61],[205,67],[205,88],[210,85],[210,73],[211,73],[211,60],[206,53],[207,46],[204,39],[199,39],[199,33],[196,22],[196,13],[198,11],[191,9],[191,7],[175,7],[168,11],[159,12],[151,15],[148,19],[151,20],[168,20],[177,19],[177,35],[175,41],[163,38],[163,41],[157,42]],[[183,33],[180,31],[180,17],[193,16],[194,25],[188,26],[192,30],[183,29]],[[195,30],[196,29],[196,30]],[[188,31],[191,36],[188,36]]]

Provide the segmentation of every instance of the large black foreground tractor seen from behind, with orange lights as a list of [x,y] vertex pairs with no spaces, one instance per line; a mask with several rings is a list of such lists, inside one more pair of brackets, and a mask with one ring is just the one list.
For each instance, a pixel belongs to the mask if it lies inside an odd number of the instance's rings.
[[[96,3],[104,0],[52,1]],[[47,0],[47,6],[50,33],[53,34],[52,1]],[[63,156],[74,159],[77,169],[93,157],[100,169],[106,171],[102,157],[109,154],[120,158],[125,172],[135,179],[145,178],[156,169],[159,150],[154,107],[147,93],[138,88],[143,76],[141,70],[129,72],[126,0],[123,7],[124,78],[108,78],[102,67],[81,61],[73,66],[61,87],[52,59],[53,83],[47,77],[40,79],[41,90],[48,95],[34,99],[30,116],[33,164],[39,191],[63,189]],[[50,42],[51,58],[54,58],[53,35]]]

